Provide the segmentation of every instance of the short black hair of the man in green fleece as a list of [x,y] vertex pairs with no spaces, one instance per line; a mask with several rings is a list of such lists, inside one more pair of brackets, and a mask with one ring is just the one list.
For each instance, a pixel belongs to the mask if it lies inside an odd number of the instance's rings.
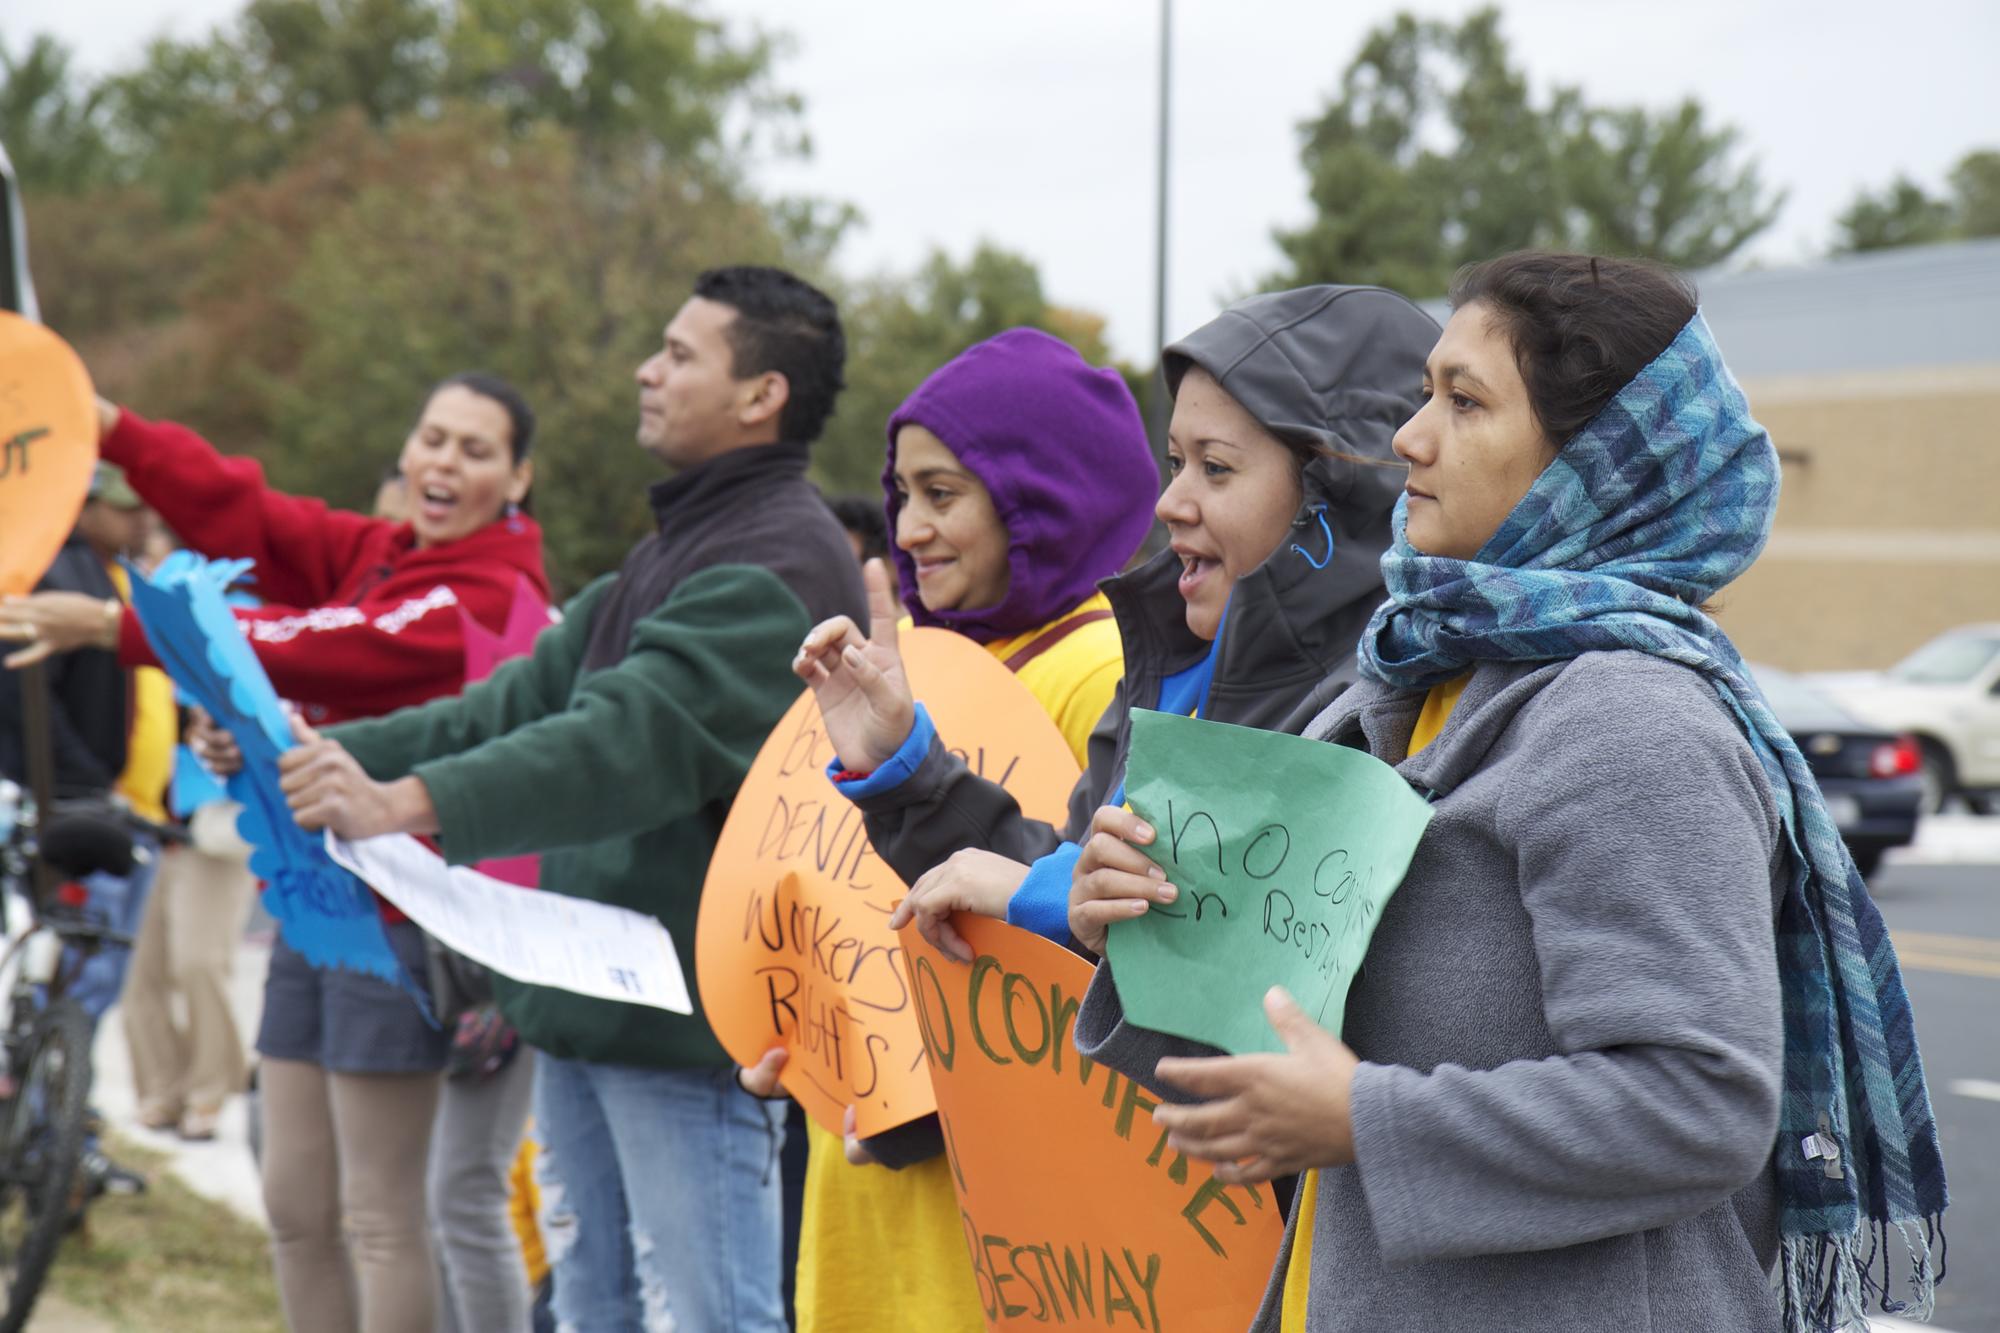
[[748,380],[776,370],[792,390],[778,434],[810,444],[846,386],[848,338],[832,296],[804,278],[762,264],[710,268],[694,294],[736,310],[730,320],[730,374]]

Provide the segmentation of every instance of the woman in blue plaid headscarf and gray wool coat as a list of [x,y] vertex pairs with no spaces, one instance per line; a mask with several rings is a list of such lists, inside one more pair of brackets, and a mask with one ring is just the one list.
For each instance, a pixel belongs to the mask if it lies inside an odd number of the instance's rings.
[[[1220,1179],[1306,1173],[1258,1329],[1928,1315],[1894,951],[1706,610],[1770,532],[1770,436],[1670,270],[1516,254],[1452,304],[1362,685],[1308,731],[1434,803],[1350,1045],[1274,991],[1286,1055],[1176,1059],[1100,969],[1078,1049],[1198,1099],[1158,1119]],[[1072,905],[1130,895],[1078,867]]]

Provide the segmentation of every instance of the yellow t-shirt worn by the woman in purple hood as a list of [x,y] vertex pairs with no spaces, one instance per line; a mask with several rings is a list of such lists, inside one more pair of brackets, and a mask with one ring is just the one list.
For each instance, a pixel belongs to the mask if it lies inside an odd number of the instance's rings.
[[[1036,630],[990,642],[986,650],[1004,662],[1052,624],[1098,608],[1110,610],[1102,592]],[[1124,644],[1118,624],[1108,618],[1070,630],[1018,673],[1070,743],[1078,765],[1120,677]],[[902,1171],[850,1167],[840,1137],[818,1123],[806,1125],[806,1141],[798,1331],[984,1329],[950,1163],[934,1157]]]

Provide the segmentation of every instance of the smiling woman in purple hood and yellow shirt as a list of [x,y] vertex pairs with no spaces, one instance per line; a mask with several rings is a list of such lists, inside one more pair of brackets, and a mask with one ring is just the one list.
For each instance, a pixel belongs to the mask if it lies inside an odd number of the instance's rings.
[[[1034,328],[960,352],[888,420],[882,490],[904,608],[1000,658],[1078,765],[1124,677],[1096,584],[1138,550],[1156,488],[1146,424],[1118,372]],[[864,576],[870,618],[892,630],[902,608],[888,570],[870,560]],[[744,1085],[768,1095],[780,1063],[774,1051]],[[802,1333],[984,1327],[936,1123],[896,1137],[900,1161],[924,1161],[858,1165],[864,1149],[850,1161],[838,1137],[808,1125]]]

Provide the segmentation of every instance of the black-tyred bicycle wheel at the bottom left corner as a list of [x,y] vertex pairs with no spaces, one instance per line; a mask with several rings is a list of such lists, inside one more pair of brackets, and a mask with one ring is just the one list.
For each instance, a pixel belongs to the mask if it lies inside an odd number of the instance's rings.
[[0,1105],[0,1333],[20,1333],[62,1241],[90,1103],[90,1019],[74,1001],[34,1017]]

